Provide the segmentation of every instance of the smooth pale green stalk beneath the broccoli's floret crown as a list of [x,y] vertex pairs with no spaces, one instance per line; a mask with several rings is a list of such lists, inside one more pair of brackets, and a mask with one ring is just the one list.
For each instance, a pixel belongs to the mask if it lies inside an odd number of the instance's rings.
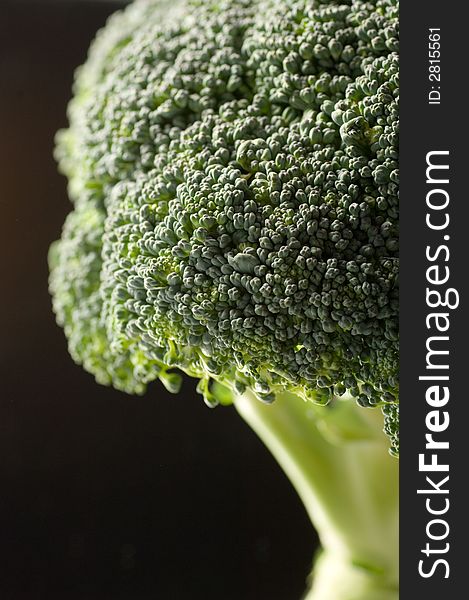
[[[398,460],[379,409],[318,407],[293,394],[235,399],[296,488],[323,552],[305,600],[397,600]],[[293,599],[292,599],[293,600]]]

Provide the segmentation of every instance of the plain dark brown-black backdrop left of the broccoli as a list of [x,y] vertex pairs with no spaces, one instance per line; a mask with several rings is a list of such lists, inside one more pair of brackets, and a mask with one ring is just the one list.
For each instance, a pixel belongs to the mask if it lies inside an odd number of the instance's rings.
[[295,600],[314,533],[233,409],[142,398],[67,354],[47,249],[72,73],[113,2],[0,0],[0,598]]

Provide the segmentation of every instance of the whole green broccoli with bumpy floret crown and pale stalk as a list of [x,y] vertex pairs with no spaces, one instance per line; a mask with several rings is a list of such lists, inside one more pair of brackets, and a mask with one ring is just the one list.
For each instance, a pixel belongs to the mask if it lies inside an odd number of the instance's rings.
[[72,357],[234,404],[321,538],[308,600],[398,597],[398,76],[397,0],[137,0],[58,134]]

